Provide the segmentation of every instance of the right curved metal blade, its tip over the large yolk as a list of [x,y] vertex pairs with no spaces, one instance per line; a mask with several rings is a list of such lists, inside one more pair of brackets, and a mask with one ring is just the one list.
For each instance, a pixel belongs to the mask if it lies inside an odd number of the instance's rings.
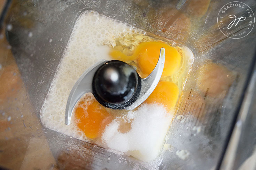
[[155,90],[156,85],[158,84],[163,73],[164,60],[165,60],[165,49],[161,48],[156,67],[148,77],[141,79],[141,91],[138,99],[132,105],[125,108],[126,110],[133,110],[137,108]]

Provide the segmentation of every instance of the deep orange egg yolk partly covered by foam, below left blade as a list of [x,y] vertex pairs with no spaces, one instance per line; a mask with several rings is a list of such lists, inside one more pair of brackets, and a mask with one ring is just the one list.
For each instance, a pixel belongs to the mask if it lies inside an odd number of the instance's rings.
[[[87,108],[84,109],[86,105]],[[107,110],[96,100],[91,104],[80,102],[76,109],[76,117],[78,128],[91,139],[99,137],[101,131],[111,119]]]

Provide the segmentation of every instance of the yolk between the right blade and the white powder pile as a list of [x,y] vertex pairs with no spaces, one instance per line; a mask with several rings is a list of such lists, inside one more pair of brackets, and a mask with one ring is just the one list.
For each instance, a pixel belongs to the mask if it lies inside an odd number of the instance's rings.
[[146,99],[146,103],[159,103],[168,111],[172,110],[178,100],[179,88],[172,82],[159,82],[155,90]]

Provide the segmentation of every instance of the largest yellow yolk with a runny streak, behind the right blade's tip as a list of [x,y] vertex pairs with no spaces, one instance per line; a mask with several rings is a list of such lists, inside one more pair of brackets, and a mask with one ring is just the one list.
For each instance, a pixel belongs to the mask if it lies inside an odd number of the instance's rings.
[[138,65],[143,74],[149,75],[155,68],[160,49],[165,48],[165,63],[162,76],[170,76],[180,67],[181,56],[176,48],[162,42],[140,43],[131,56],[126,56],[123,52],[112,50],[110,56],[116,60],[131,61],[138,59]]

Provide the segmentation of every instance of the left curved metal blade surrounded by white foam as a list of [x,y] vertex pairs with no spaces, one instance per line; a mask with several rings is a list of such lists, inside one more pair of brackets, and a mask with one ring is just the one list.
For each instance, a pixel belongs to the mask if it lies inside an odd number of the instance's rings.
[[78,100],[85,94],[85,93],[92,93],[92,79],[95,72],[98,70],[100,66],[106,63],[106,60],[101,60],[94,65],[92,65],[89,69],[87,69],[82,76],[79,77],[76,84],[73,86],[69,97],[68,102],[66,105],[66,112],[65,112],[65,124],[69,125],[71,121],[72,112],[75,108],[76,103]]

